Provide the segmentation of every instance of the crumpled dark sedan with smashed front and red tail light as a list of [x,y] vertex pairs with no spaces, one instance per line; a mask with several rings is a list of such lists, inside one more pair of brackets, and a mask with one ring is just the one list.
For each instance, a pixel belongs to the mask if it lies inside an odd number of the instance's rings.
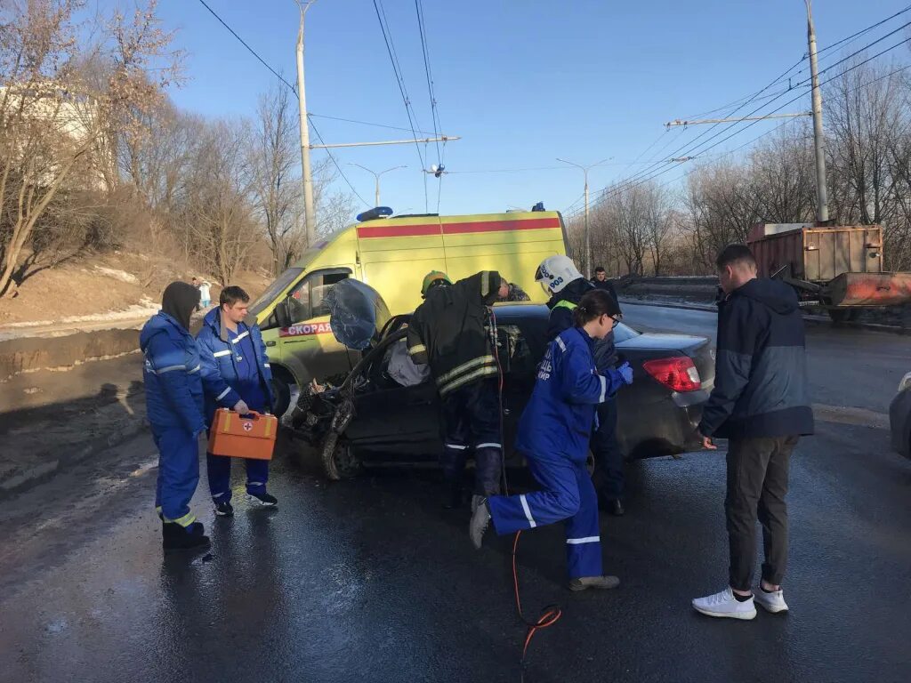
[[[355,287],[346,285],[346,287]],[[333,333],[340,342],[352,322],[360,326],[361,361],[339,386],[304,391],[292,411],[295,435],[315,447],[330,479],[345,479],[364,467],[434,464],[443,450],[439,396],[421,366],[409,371],[401,359],[410,314],[389,317],[379,295],[358,283],[357,297],[335,301]],[[360,301],[353,314],[352,301]],[[377,302],[379,301],[379,303]],[[364,312],[369,321],[364,321]],[[504,456],[521,466],[512,449],[518,419],[534,386],[537,363],[547,347],[548,308],[534,303],[494,308],[496,356],[502,371]],[[369,342],[363,330],[374,333]],[[714,382],[714,354],[705,337],[640,333],[619,324],[615,342],[634,382],[618,394],[619,443],[628,460],[699,450],[695,428]],[[363,347],[362,347],[363,348]]]

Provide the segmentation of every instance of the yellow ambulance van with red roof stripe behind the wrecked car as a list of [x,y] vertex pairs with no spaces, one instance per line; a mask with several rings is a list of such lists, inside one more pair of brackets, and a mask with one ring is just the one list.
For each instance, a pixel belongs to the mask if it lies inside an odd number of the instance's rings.
[[443,270],[453,281],[498,270],[532,301],[545,301],[535,270],[548,256],[565,253],[557,211],[373,218],[316,244],[251,306],[269,352],[276,412],[287,407],[292,384],[345,372],[359,359],[359,352],[335,341],[329,325],[323,297],[336,282],[366,282],[393,314],[415,310],[430,270]]

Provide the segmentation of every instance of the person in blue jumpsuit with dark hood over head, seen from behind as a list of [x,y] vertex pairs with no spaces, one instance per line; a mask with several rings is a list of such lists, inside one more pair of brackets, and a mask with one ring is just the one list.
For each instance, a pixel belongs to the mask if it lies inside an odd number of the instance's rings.
[[189,333],[189,317],[199,302],[200,291],[191,284],[171,282],[161,311],[139,334],[148,423],[159,449],[155,507],[166,552],[209,545],[202,523],[189,511],[200,482],[199,437],[206,431],[200,354]]

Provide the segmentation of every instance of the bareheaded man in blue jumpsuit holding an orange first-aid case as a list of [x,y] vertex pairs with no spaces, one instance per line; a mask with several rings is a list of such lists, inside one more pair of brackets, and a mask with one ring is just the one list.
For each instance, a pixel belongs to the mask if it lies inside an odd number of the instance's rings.
[[[250,295],[240,287],[225,287],[219,296],[219,307],[212,309],[202,323],[196,341],[200,345],[202,382],[206,392],[206,417],[212,423],[216,408],[230,408],[237,413],[271,411],[269,357],[262,342],[260,327],[248,325],[247,305]],[[209,490],[215,514],[230,516],[231,458],[206,454]],[[247,499],[253,505],[274,507],[275,496],[266,492],[269,461],[247,459]]]

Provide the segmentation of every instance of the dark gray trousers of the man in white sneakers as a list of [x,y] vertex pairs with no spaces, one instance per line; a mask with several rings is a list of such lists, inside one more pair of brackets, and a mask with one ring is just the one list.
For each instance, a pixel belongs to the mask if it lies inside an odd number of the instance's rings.
[[756,520],[763,525],[763,579],[778,586],[788,562],[788,470],[799,437],[732,439],[728,444],[728,491],[724,498],[731,551],[730,582],[752,588]]

